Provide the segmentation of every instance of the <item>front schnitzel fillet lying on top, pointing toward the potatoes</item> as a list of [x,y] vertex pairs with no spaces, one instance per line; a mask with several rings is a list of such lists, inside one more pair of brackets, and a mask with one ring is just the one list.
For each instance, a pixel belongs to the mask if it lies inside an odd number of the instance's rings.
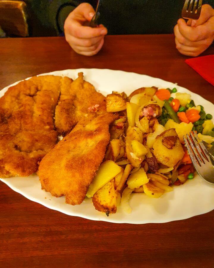
[[71,205],[84,200],[110,140],[109,124],[117,118],[111,113],[93,116],[86,124],[79,122],[39,166],[42,189],[56,197],[65,196]]

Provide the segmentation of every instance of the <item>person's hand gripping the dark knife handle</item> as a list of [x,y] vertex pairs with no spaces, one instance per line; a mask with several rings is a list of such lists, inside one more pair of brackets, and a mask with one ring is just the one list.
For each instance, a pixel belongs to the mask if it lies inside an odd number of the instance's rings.
[[103,25],[96,28],[85,26],[91,21],[95,11],[90,4],[80,4],[67,17],[64,23],[65,39],[75,52],[93,56],[100,51],[107,29]]

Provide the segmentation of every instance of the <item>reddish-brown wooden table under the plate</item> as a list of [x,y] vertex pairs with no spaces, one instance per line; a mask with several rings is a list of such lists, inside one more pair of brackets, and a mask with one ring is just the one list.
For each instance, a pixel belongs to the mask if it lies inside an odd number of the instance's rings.
[[[0,51],[1,88],[49,71],[110,68],[177,82],[214,103],[214,87],[184,62],[173,35],[107,36],[94,57],[75,54],[63,38],[2,39]],[[90,221],[0,183],[0,267],[214,267],[213,222],[214,211],[164,224]]]

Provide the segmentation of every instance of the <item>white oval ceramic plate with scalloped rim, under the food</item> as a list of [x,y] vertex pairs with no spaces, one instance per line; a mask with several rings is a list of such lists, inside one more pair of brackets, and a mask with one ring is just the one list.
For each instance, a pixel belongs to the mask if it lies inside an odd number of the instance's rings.
[[[174,83],[147,75],[107,69],[64,70],[48,74],[68,76],[75,79],[80,71],[84,72],[85,80],[91,82],[97,91],[104,95],[112,91],[125,91],[130,94],[140,87],[174,88],[176,86],[179,92],[190,93],[196,105],[203,105],[207,113],[213,113],[214,110],[214,105],[201,96]],[[4,95],[8,88],[6,87],[0,91],[0,97]],[[41,190],[37,175],[12,177],[1,179],[1,181],[29,200],[48,208],[71,216],[107,222],[135,224],[170,222],[190,218],[214,209],[214,186],[206,183],[199,175],[181,186],[175,186],[174,191],[165,193],[158,199],[152,199],[145,194],[132,194],[130,198],[131,214],[124,213],[119,206],[117,213],[108,217],[95,210],[91,199],[86,198],[81,205],[72,206],[65,204],[64,197],[52,197],[50,193]]]

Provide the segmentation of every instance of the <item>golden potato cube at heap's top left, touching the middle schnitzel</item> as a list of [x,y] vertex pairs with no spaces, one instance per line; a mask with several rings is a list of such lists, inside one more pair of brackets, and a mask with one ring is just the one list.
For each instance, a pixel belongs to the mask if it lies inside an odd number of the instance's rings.
[[109,94],[106,97],[106,111],[108,113],[119,112],[126,109],[125,99],[119,94]]

